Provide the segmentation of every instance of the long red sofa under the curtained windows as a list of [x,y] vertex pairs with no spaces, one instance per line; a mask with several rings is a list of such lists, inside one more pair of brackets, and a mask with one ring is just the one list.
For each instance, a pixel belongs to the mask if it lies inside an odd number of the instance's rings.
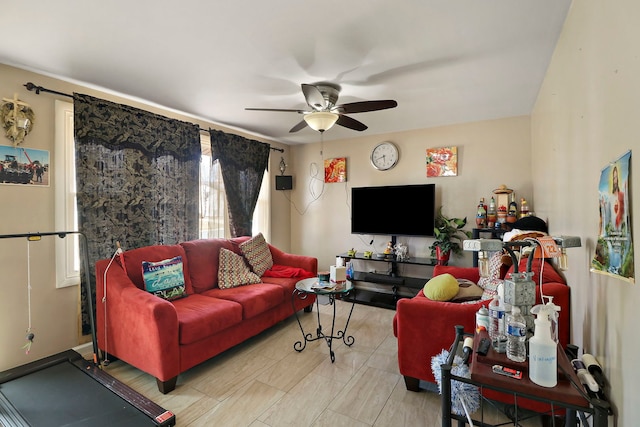
[[[293,274],[298,270],[299,276],[267,277],[265,273],[258,284],[218,287],[220,249],[240,254],[240,243],[248,239],[202,239],[133,249],[112,262],[108,270],[108,259],[98,261],[100,350],[153,375],[158,389],[168,393],[180,373],[291,316],[293,304],[296,311],[310,311],[315,298],[296,298],[292,303],[292,294],[298,280],[317,274],[318,260],[271,245],[273,270],[276,266],[293,267],[288,270]],[[188,296],[168,301],[145,291],[142,262],[176,256],[182,257]]]

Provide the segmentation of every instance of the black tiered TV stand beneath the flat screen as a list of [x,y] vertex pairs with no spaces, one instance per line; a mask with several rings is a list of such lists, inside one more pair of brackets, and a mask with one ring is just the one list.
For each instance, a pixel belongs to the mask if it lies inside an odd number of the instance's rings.
[[[394,237],[392,237],[392,243],[394,240]],[[355,302],[360,304],[373,305],[393,310],[395,310],[396,303],[400,298],[414,297],[431,278],[430,273],[425,274],[423,277],[400,276],[398,274],[398,266],[403,264],[413,264],[433,267],[437,264],[437,261],[432,258],[410,257],[399,261],[393,255],[383,256],[381,254],[374,254],[371,258],[367,258],[364,256],[363,252],[357,252],[354,256],[349,256],[347,253],[341,253],[338,256],[344,258],[345,262],[356,260],[387,263],[388,267],[390,267],[388,273],[354,270],[352,282],[354,282],[354,286],[356,286],[356,288],[358,288],[358,282],[374,283],[376,285],[380,285],[381,288],[385,288],[384,291],[358,289],[354,298]]]

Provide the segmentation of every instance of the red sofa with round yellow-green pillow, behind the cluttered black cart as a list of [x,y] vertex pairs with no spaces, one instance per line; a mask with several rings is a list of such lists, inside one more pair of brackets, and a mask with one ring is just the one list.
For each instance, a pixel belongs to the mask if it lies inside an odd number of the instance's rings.
[[[542,262],[534,260],[532,271],[536,283],[536,303],[540,304],[538,284]],[[519,271],[526,271],[526,259],[523,259]],[[512,272],[511,267],[508,272]],[[457,279],[467,279],[474,283],[479,280],[477,268],[436,266],[433,275],[450,273]],[[559,317],[559,339],[563,347],[569,343],[570,336],[570,288],[565,280],[545,262],[542,270],[545,295],[553,296],[554,304],[561,307]],[[504,276],[502,276],[504,277]],[[411,299],[401,299],[396,305],[393,319],[393,332],[398,340],[398,365],[404,376],[407,390],[419,391],[420,380],[435,383],[431,370],[431,358],[443,349],[449,349],[455,339],[455,326],[462,325],[465,332],[475,329],[475,314],[481,306],[488,306],[490,300],[471,304],[433,301],[421,290]]]

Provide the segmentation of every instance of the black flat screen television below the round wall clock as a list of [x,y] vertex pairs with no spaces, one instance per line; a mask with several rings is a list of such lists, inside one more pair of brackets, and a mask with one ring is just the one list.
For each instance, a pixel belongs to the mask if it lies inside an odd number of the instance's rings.
[[433,237],[436,185],[351,188],[351,233]]

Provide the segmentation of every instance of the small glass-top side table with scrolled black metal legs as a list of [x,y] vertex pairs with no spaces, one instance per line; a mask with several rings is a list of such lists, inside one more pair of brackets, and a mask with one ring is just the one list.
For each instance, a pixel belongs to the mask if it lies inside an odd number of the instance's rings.
[[[353,307],[355,306],[355,298],[352,298],[351,309],[349,310],[349,316],[347,317],[347,321],[344,325],[344,329],[336,330],[336,298],[341,298],[349,295],[350,293],[355,293],[355,288],[353,283],[350,281],[346,281],[344,283],[327,283],[327,282],[318,282],[318,278],[312,277],[310,279],[300,280],[296,283],[296,288],[293,290],[293,294],[291,296],[291,304],[294,305],[294,313],[296,315],[296,320],[298,321],[298,326],[300,326],[300,332],[302,332],[302,340],[296,341],[293,345],[293,348],[297,352],[301,352],[307,346],[308,342],[317,341],[319,339],[324,339],[329,346],[329,356],[331,357],[331,363],[335,362],[336,356],[333,352],[333,340],[340,339],[347,346],[352,346],[355,342],[355,339],[351,335],[347,335],[347,328],[349,327],[349,321],[351,320],[351,313],[353,313]],[[295,310],[295,299],[305,299],[309,295],[316,296],[316,314],[318,318],[318,327],[316,328],[315,335],[312,333],[305,333],[302,328],[302,323],[300,323],[300,318],[298,317],[298,312]],[[331,319],[331,333],[326,334],[322,330],[322,324],[320,323],[320,303],[319,296],[326,296],[329,298],[329,304],[333,307],[333,317]]]

